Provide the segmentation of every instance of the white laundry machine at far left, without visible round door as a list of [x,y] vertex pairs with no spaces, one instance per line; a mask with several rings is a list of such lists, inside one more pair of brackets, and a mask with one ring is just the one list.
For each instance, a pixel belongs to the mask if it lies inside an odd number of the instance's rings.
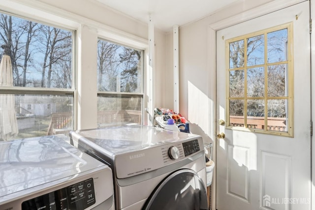
[[65,136],[0,141],[0,210],[115,210],[112,177]]

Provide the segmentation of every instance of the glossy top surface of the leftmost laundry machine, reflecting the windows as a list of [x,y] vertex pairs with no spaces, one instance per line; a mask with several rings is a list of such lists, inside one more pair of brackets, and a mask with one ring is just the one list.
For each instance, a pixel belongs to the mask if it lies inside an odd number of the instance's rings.
[[65,140],[65,136],[47,136],[1,141],[0,198],[104,166]]

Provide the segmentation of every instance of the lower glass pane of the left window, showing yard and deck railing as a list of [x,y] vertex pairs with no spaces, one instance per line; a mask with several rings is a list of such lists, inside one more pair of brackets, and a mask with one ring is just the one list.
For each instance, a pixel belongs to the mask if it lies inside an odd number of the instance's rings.
[[[13,97],[12,103],[7,103],[8,97]],[[0,122],[0,127],[4,128],[0,140],[67,135],[73,130],[73,96],[0,94],[0,105],[2,109],[6,107],[5,111],[0,111],[0,117],[7,117],[4,124]],[[17,132],[12,133],[15,126]]]

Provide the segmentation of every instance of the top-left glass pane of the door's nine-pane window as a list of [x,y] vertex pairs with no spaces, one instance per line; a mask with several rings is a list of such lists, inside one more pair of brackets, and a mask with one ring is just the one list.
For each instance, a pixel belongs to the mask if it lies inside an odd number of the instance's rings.
[[244,40],[229,43],[229,69],[244,67]]

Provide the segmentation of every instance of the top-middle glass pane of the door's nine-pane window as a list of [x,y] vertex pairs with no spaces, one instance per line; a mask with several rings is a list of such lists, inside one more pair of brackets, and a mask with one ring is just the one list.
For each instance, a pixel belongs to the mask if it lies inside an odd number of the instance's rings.
[[264,35],[258,35],[247,39],[247,66],[261,65],[265,63]]

